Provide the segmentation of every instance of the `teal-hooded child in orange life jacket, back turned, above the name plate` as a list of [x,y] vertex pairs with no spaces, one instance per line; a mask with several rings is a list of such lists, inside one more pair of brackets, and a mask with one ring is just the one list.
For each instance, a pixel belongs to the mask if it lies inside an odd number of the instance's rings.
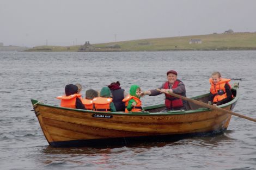
[[112,102],[111,91],[108,87],[102,87],[100,97],[95,97],[93,104],[96,111],[117,111]]

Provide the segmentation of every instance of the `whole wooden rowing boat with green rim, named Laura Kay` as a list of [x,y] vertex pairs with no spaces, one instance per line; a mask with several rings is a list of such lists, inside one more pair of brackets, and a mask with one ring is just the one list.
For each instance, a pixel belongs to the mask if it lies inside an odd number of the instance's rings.
[[[232,110],[239,88],[232,88],[233,100],[218,107]],[[193,97],[208,102],[209,94]],[[231,118],[225,112],[200,108],[188,102],[186,111],[160,112],[164,104],[147,106],[143,112],[99,112],[62,108],[31,100],[46,140],[51,146],[99,146],[137,141],[175,140],[187,135],[221,133]]]

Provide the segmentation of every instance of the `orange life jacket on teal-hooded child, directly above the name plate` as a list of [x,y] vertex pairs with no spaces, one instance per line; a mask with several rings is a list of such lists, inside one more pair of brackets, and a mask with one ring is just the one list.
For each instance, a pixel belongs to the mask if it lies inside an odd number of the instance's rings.
[[93,104],[96,111],[110,111],[111,97],[95,97],[93,98]]

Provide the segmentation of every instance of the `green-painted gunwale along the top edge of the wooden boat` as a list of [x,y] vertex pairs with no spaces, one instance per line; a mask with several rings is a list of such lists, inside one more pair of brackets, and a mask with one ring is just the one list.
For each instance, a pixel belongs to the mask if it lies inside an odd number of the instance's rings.
[[[219,108],[224,108],[225,106],[231,105],[235,102],[237,102],[237,100],[239,99],[239,87],[238,86],[234,86],[232,88],[232,90],[236,91],[236,96],[233,100],[231,100],[228,103],[225,103],[223,105],[218,106]],[[196,97],[192,97],[191,99],[198,99],[198,98],[202,98],[202,97],[206,97],[208,96],[209,93],[206,93],[204,95],[200,95],[200,96],[196,96]],[[132,112],[131,114],[126,114],[124,112],[99,112],[99,111],[92,111],[92,110],[81,110],[81,109],[71,109],[71,108],[63,108],[60,106],[53,106],[53,105],[47,105],[47,104],[43,104],[41,102],[38,102],[38,100],[34,100],[31,99],[31,102],[33,105],[42,105],[42,106],[47,106],[47,107],[51,107],[51,108],[59,108],[59,109],[64,109],[64,110],[74,110],[74,111],[81,111],[81,112],[91,112],[91,113],[96,113],[96,114],[112,114],[112,115],[127,115],[127,116],[134,116],[134,115],[182,115],[182,114],[193,114],[193,113],[197,113],[197,112],[203,112],[203,111],[210,111],[211,109],[209,108],[199,108],[196,110],[186,110],[186,111],[167,111],[167,112],[155,112],[155,113],[150,113],[148,111],[144,111],[144,112]],[[154,109],[154,108],[160,108],[163,107],[164,104],[158,104],[158,105],[153,105],[153,106],[146,106],[143,109],[147,110],[147,109]]]

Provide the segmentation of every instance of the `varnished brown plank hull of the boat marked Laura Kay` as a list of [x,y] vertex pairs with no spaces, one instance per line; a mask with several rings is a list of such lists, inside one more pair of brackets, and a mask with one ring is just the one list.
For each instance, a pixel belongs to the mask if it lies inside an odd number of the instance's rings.
[[[224,109],[230,108],[228,105]],[[111,138],[123,138],[127,143],[125,138],[130,141],[139,136],[220,133],[228,128],[231,118],[215,110],[190,114],[111,114],[37,105],[35,112],[48,143],[53,146]]]

